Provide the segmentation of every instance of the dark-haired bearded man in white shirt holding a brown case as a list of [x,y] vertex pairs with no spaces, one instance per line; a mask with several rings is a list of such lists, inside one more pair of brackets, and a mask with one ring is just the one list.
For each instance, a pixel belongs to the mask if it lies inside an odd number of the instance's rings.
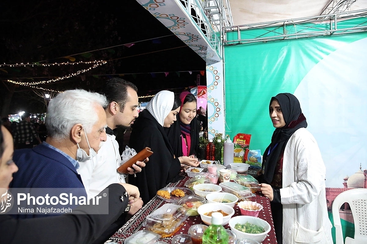
[[[108,100],[108,106],[105,108],[107,116],[107,140],[98,151],[96,157],[87,162],[80,163],[78,173],[86,188],[89,197],[94,197],[108,185],[113,183],[125,183],[124,174],[117,173],[116,169],[120,166],[121,156],[119,153],[119,144],[116,141],[116,135],[113,129],[128,128],[138,117],[138,94],[137,87],[126,80],[113,78],[106,82],[102,93]],[[148,158],[146,159],[148,161]],[[132,168],[127,168],[129,174],[141,172],[145,166],[144,162],[137,162]],[[135,214],[141,209],[143,201],[140,199],[131,204],[128,213]]]

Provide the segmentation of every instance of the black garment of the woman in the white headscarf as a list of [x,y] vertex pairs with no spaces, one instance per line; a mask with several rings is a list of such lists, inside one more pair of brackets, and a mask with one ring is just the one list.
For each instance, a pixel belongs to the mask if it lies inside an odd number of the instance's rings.
[[149,202],[159,189],[182,178],[178,175],[180,161],[177,157],[174,158],[172,146],[163,127],[146,109],[139,113],[134,122],[129,147],[137,152],[145,147],[150,147],[153,151],[142,172],[137,173],[136,177],[129,174],[128,182],[139,188],[144,204]]

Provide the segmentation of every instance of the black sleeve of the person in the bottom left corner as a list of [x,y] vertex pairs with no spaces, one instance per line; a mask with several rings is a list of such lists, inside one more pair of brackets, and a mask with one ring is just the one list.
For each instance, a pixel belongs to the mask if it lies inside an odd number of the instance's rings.
[[14,219],[0,214],[0,243],[104,243],[124,224],[128,203],[128,197],[124,196],[123,202],[120,199],[125,192],[122,185],[112,184],[106,189],[98,196],[108,192],[108,198],[102,196],[100,200],[108,200],[109,214],[97,214],[101,210],[98,205],[82,205],[72,212],[79,214],[56,217]]

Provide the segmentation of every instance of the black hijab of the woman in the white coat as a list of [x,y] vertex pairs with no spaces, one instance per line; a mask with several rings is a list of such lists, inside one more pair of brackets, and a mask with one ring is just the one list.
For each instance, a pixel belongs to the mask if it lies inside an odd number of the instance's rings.
[[280,93],[272,97],[269,108],[273,100],[278,101],[286,125],[282,128],[275,129],[272,141],[264,152],[262,161],[264,175],[262,176],[262,180],[268,184],[273,181],[276,163],[279,155],[284,151],[289,138],[297,129],[307,127],[306,118],[302,113],[298,99],[294,95],[290,93]]

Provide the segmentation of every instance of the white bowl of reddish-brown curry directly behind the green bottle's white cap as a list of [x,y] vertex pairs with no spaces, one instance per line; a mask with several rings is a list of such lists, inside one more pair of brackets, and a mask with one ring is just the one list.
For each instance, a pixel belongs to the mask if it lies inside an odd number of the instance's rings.
[[233,214],[235,214],[235,209],[233,207],[230,207],[224,203],[206,203],[197,208],[197,213],[200,214],[201,220],[206,225],[211,224],[211,216],[205,215],[206,213],[209,213],[211,211],[218,211],[222,210],[224,213],[228,214],[227,216],[223,216],[223,224],[228,224],[228,221],[230,218],[232,218]]

